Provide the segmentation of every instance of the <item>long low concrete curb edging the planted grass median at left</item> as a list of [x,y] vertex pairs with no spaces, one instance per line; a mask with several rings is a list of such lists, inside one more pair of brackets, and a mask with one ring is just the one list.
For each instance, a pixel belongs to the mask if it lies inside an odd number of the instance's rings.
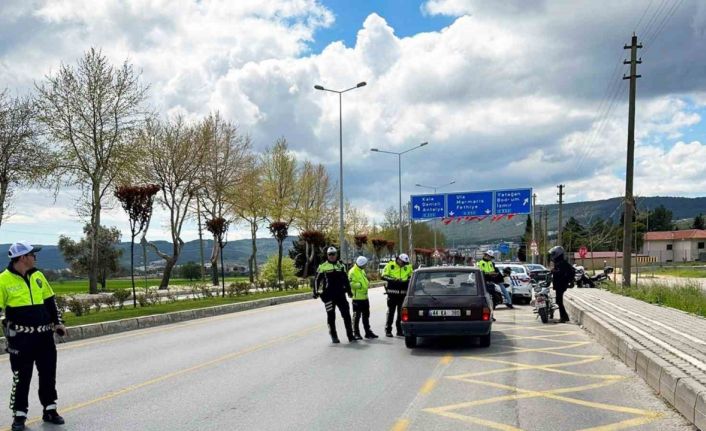
[[[373,282],[370,288],[381,287],[383,283]],[[272,298],[256,299],[253,301],[234,302],[232,304],[216,305],[213,307],[194,308],[191,310],[175,311],[172,313],[154,314],[149,316],[132,317],[129,319],[112,320],[109,322],[90,323],[69,327],[69,335],[59,340],[54,336],[56,342],[68,342],[84,340],[86,338],[101,337],[103,335],[117,334],[119,332],[132,331],[135,329],[145,329],[154,326],[179,323],[187,320],[201,319],[205,317],[219,316],[222,314],[237,313],[245,310],[269,307],[272,305],[287,304],[290,302],[304,301],[312,299],[311,293],[298,293],[295,295],[276,296]],[[318,300],[317,300],[318,301]],[[0,337],[0,355],[5,355],[7,342],[5,337]]]

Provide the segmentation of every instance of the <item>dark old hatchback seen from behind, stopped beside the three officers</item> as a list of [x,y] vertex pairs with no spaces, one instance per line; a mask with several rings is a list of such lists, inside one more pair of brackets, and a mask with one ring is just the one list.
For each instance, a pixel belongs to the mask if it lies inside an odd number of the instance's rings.
[[412,274],[402,304],[402,332],[408,348],[417,337],[474,336],[490,346],[493,301],[478,268],[420,268]]

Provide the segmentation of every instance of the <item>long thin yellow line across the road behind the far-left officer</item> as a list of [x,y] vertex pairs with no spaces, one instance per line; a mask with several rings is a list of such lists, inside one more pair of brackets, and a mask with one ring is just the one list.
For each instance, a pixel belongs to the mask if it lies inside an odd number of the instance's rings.
[[[257,351],[259,351],[259,350],[263,350],[263,349],[266,349],[266,348],[268,348],[268,347],[274,346],[275,344],[279,344],[279,343],[282,343],[282,342],[284,342],[284,341],[288,341],[288,340],[292,340],[292,339],[295,339],[295,338],[303,337],[303,336],[308,335],[309,333],[311,333],[311,332],[313,332],[313,331],[315,331],[315,330],[320,329],[320,328],[323,327],[323,326],[324,326],[324,325],[312,326],[312,327],[309,327],[309,328],[307,328],[307,329],[304,329],[304,330],[302,330],[302,331],[300,331],[300,332],[297,332],[297,333],[295,333],[295,334],[290,334],[290,335],[285,335],[285,336],[282,336],[282,337],[274,338],[274,339],[272,339],[272,340],[270,340],[270,341],[267,341],[267,342],[265,342],[265,343],[262,343],[262,344],[258,344],[258,345],[249,347],[249,348],[244,349],[244,350],[240,350],[240,351],[237,351],[237,352],[229,353],[229,354],[220,356],[220,357],[218,357],[218,358],[212,359],[212,360],[210,360],[210,361],[201,362],[201,363],[199,363],[198,365],[194,365],[193,367],[183,368],[183,369],[181,369],[181,370],[173,371],[173,372],[171,372],[171,373],[167,373],[167,374],[164,374],[164,375],[162,375],[162,376],[155,377],[155,378],[150,379],[150,380],[146,380],[146,381],[144,381],[144,382],[142,382],[142,383],[137,383],[137,384],[134,384],[134,385],[126,386],[126,387],[124,387],[124,388],[122,388],[122,389],[118,389],[118,390],[116,390],[116,391],[109,392],[109,393],[107,393],[107,394],[105,394],[105,395],[103,395],[103,396],[100,396],[100,397],[97,397],[97,398],[94,398],[94,399],[91,399],[91,400],[88,400],[88,401],[84,401],[84,402],[82,402],[82,403],[73,404],[73,405],[70,405],[70,406],[68,406],[68,407],[64,407],[64,408],[62,408],[62,412],[63,412],[63,413],[70,413],[70,412],[72,412],[72,411],[79,410],[79,409],[82,409],[82,408],[91,406],[91,405],[93,405],[93,404],[97,404],[97,403],[102,402],[102,401],[107,401],[107,400],[110,400],[110,399],[119,397],[119,396],[121,396],[121,395],[125,395],[125,394],[127,394],[127,393],[134,392],[134,391],[136,391],[136,390],[138,390],[138,389],[142,389],[142,388],[147,387],[147,386],[151,386],[151,385],[154,385],[154,384],[157,384],[157,383],[161,383],[161,382],[164,382],[164,381],[166,381],[166,380],[173,379],[173,378],[175,378],[175,377],[183,376],[183,375],[185,375],[185,374],[189,374],[189,373],[192,373],[192,372],[194,372],[194,371],[198,371],[198,370],[201,370],[201,369],[203,369],[203,368],[210,367],[210,366],[212,366],[212,365],[217,365],[217,364],[220,364],[220,363],[223,363],[223,362],[232,360],[232,359],[237,359],[237,358],[242,357],[242,356],[245,356],[245,355],[247,355],[247,354],[249,354],[249,353],[254,353],[254,352],[257,352]],[[27,424],[37,423],[37,422],[39,422],[41,419],[42,419],[41,416],[34,417],[34,418],[28,420],[28,421],[27,421]],[[9,430],[9,428],[4,428],[4,429],[2,429],[2,431],[7,431],[7,430]]]

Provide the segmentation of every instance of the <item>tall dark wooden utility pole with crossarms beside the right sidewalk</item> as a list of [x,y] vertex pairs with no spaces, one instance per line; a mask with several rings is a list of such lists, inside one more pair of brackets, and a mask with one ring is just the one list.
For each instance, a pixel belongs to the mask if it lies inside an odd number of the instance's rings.
[[635,200],[632,195],[633,165],[635,164],[635,92],[637,90],[637,65],[642,60],[637,59],[637,50],[642,48],[637,43],[637,35],[633,33],[630,45],[625,45],[624,49],[630,50],[630,60],[625,60],[623,64],[630,65],[630,76],[623,76],[623,79],[630,80],[630,105],[628,107],[628,155],[625,169],[625,205],[623,216],[623,287],[630,287],[631,265],[632,265],[632,217],[635,212]]

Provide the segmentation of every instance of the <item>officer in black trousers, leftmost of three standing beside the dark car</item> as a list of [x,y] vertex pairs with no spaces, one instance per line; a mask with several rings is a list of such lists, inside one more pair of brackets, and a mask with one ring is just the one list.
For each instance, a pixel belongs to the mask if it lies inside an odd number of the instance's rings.
[[338,260],[336,247],[329,247],[326,250],[326,262],[319,265],[319,269],[316,271],[314,298],[320,296],[326,306],[329,334],[331,334],[331,341],[334,344],[341,342],[336,333],[336,307],[343,318],[348,341],[356,341],[353,336],[351,312],[346,294],[349,297],[352,296],[346,267]]

